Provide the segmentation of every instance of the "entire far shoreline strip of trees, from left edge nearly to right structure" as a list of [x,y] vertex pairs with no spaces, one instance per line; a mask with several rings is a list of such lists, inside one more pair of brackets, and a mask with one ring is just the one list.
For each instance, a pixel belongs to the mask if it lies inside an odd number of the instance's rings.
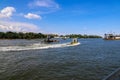
[[42,34],[42,33],[23,33],[23,32],[0,32],[0,39],[41,39],[47,38],[47,35],[54,37],[69,37],[69,38],[102,38],[98,35],[81,35],[81,34],[69,34],[69,35],[57,35],[57,34]]

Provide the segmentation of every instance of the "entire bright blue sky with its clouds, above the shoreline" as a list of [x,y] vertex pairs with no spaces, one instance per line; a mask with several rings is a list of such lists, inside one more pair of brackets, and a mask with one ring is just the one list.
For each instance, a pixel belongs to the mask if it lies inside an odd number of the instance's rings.
[[120,0],[0,0],[0,31],[120,34]]

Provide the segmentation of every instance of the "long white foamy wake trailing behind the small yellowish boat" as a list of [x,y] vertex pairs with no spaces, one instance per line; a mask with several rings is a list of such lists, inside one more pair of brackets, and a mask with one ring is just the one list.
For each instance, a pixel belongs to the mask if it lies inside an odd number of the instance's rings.
[[70,44],[70,43],[63,43],[63,44],[41,44],[35,43],[26,46],[6,46],[0,47],[0,51],[23,51],[23,50],[36,50],[36,49],[48,49],[48,48],[60,48],[60,47],[69,47],[69,46],[77,46],[80,43]]

